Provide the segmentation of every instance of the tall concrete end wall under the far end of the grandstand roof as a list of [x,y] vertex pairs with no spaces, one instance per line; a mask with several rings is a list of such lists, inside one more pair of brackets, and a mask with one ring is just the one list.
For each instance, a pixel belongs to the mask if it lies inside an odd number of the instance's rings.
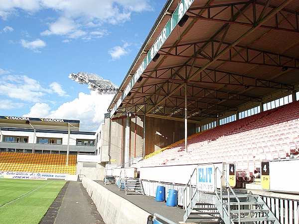
[[[111,142],[109,150],[109,125],[111,122]],[[101,162],[109,162],[111,164],[125,163],[125,138],[126,138],[127,117],[119,117],[118,119],[105,119],[105,123],[101,127]],[[144,116],[130,117],[129,131],[129,160],[135,157],[143,156],[144,144]],[[188,123],[188,135],[195,133],[196,125]],[[184,122],[173,121],[161,118],[146,117],[146,148],[145,155],[157,151],[173,142],[184,138]],[[127,158],[128,159],[128,158]],[[129,161],[128,160],[128,161]]]

